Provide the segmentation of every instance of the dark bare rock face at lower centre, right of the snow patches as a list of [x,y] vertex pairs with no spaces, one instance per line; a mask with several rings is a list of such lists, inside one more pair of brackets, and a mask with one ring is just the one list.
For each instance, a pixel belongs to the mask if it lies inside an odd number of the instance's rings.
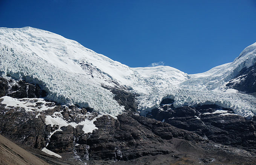
[[136,116],[119,115],[117,119],[103,116],[94,122],[94,130],[83,144],[90,146],[89,157],[93,160],[130,160],[172,151],[172,137],[191,141],[204,141],[195,133],[177,129],[168,123]]

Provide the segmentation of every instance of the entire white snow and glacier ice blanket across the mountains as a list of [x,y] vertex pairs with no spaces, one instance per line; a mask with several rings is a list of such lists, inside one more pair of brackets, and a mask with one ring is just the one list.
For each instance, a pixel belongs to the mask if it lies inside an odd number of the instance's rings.
[[[113,50],[114,51],[114,50]],[[0,74],[40,84],[47,99],[91,107],[118,115],[124,108],[102,87],[128,87],[138,93],[139,111],[158,107],[172,98],[174,106],[217,104],[250,118],[256,99],[225,85],[244,67],[256,62],[256,43],[233,62],[201,74],[188,75],[169,66],[130,68],[58,34],[32,27],[0,28]]]

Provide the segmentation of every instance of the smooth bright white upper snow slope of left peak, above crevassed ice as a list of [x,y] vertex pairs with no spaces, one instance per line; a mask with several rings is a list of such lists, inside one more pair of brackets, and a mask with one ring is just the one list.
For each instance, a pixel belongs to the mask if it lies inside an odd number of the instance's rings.
[[[113,69],[116,69],[115,66],[122,65],[104,55],[85,48],[74,40],[37,28],[1,28],[0,35],[3,45],[12,46],[13,49],[20,49],[20,52],[24,51],[24,53],[33,52],[48,63],[68,72],[83,73],[82,68],[77,65],[82,60],[93,62],[95,66],[99,66],[99,69],[104,69],[108,74],[111,74]],[[108,66],[104,67],[102,62],[106,62]],[[125,68],[126,66],[123,65],[123,67]]]

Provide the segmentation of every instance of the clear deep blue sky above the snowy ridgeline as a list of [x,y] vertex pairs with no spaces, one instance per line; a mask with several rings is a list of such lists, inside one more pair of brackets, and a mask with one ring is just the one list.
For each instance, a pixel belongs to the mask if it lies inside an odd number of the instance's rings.
[[232,62],[256,42],[256,0],[0,0],[0,27],[25,26],[130,67],[194,74]]

